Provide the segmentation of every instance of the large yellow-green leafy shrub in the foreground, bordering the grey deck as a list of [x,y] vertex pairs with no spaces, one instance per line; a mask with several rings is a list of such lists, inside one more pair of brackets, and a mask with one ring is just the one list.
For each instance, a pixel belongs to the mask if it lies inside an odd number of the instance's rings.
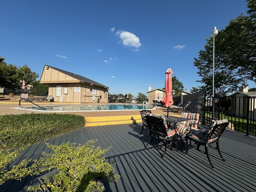
[[61,144],[60,146],[47,146],[53,153],[46,154],[35,160],[28,170],[36,174],[60,170],[55,175],[44,178],[44,184],[30,186],[28,190],[83,192],[103,190],[97,178],[103,178],[108,182],[116,182],[120,176],[114,174],[114,168],[105,161],[104,153],[109,149],[94,148],[95,140],[89,140],[86,144],[75,146],[74,143]]

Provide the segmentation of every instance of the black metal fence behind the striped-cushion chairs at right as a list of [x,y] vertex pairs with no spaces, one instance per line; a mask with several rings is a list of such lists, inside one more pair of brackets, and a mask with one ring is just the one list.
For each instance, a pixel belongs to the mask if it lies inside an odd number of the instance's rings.
[[205,92],[199,92],[176,97],[174,103],[180,100],[183,100],[183,104],[191,101],[186,111],[199,113],[202,124],[210,124],[212,117],[215,120],[225,118],[234,130],[256,136],[256,97],[214,97],[212,102],[212,97],[206,97]]

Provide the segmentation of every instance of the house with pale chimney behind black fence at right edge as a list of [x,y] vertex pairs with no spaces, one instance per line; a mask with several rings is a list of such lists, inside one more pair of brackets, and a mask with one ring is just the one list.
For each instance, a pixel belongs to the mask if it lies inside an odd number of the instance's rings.
[[[229,97],[236,98],[232,99],[231,114],[235,114],[236,117],[240,115],[240,118],[246,118],[248,113],[249,119],[256,119],[256,88],[248,90],[248,87],[240,87],[237,92]],[[247,106],[250,106],[249,109],[247,109]],[[241,114],[243,115],[241,116]]]

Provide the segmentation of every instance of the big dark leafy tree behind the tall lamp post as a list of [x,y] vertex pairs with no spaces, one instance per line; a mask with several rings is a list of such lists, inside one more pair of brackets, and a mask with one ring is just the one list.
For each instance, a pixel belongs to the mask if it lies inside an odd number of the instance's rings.
[[[224,96],[236,91],[239,86],[247,86],[248,80],[256,82],[254,22],[251,16],[241,14],[236,19],[230,20],[228,26],[220,30],[215,37],[214,90],[216,96]],[[200,89],[211,95],[213,39],[206,38],[206,41],[204,50],[199,52],[198,59],[194,58],[194,66],[198,68],[197,73],[201,77],[198,82],[203,84]]]

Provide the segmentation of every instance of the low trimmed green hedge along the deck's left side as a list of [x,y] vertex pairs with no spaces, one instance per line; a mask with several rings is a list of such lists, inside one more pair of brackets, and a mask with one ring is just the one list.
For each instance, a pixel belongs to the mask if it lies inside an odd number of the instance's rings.
[[0,149],[20,148],[85,125],[84,116],[74,114],[19,114],[0,116]]

